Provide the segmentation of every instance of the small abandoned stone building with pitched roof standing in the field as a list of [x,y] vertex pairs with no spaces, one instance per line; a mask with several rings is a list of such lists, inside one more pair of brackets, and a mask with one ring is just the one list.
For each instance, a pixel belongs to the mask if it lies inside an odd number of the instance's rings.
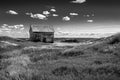
[[29,29],[30,40],[35,42],[54,42],[54,29],[51,26],[31,25]]

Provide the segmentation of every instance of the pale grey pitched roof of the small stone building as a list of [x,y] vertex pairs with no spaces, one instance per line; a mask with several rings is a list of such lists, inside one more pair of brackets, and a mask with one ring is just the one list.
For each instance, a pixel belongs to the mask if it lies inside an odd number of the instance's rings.
[[49,25],[32,25],[33,32],[54,32],[54,28]]

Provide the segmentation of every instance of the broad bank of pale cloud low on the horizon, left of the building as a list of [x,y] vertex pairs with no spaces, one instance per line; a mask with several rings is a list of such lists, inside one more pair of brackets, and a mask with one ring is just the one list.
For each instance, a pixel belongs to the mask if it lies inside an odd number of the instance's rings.
[[23,24],[16,24],[16,25],[3,24],[0,27],[0,35],[10,36],[14,38],[28,37],[28,35],[26,34],[27,32],[24,31],[23,29],[24,29]]

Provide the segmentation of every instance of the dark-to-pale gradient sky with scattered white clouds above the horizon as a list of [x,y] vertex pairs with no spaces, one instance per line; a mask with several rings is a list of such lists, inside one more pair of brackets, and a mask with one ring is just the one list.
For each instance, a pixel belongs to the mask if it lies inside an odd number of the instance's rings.
[[56,37],[120,32],[119,0],[1,0],[0,36],[29,37],[29,26],[51,25]]

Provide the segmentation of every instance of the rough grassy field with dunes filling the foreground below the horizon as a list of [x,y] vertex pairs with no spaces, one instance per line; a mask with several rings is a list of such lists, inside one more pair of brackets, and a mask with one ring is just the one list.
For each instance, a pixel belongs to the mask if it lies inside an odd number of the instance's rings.
[[120,80],[120,35],[83,43],[0,38],[0,80]]

